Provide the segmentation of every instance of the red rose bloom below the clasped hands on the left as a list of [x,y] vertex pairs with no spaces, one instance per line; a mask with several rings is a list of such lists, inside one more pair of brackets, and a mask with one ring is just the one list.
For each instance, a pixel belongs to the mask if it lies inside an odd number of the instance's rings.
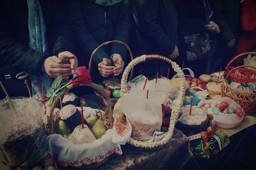
[[92,83],[90,72],[85,66],[77,67],[75,72],[79,76],[75,81],[84,84]]

